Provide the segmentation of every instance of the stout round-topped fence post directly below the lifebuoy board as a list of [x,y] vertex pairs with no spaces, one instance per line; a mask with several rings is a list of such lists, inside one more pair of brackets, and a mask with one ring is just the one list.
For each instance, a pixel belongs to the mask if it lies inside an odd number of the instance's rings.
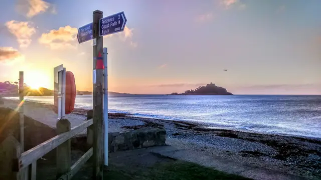
[[[70,131],[70,122],[68,119],[60,119],[57,122],[57,134]],[[66,142],[57,147],[57,178],[70,171],[71,166],[71,141]]]

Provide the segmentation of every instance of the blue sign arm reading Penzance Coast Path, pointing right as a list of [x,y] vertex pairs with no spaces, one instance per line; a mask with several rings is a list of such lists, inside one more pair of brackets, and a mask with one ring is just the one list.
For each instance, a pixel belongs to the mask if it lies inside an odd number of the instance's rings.
[[127,19],[124,12],[118,12],[99,20],[99,36],[108,35],[124,30]]

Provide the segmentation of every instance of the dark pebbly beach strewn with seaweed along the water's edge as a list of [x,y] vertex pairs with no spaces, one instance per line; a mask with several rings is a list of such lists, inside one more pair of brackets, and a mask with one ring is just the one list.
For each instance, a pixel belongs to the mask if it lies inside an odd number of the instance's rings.
[[[17,100],[4,99],[4,107],[17,107]],[[55,128],[52,105],[25,102],[25,114]],[[72,126],[83,122],[86,109],[75,109],[66,117]],[[169,145],[194,150],[307,178],[321,178],[321,139],[207,128],[200,123],[108,114],[109,131],[160,127],[167,131]]]

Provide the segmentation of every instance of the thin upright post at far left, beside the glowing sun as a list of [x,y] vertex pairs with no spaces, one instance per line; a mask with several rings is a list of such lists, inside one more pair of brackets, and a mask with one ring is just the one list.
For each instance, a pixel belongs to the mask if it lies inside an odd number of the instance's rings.
[[25,151],[24,143],[24,71],[19,71],[19,142],[21,144],[22,152]]

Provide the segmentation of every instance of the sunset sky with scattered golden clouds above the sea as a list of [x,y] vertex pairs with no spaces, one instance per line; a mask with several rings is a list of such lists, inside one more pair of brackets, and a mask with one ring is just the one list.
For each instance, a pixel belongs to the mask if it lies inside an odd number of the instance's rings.
[[[234,94],[321,94],[321,0],[2,0],[0,81],[53,88],[53,68],[92,90],[92,40],[78,28],[124,11],[103,37],[108,90],[184,92],[213,82]],[[224,71],[223,69],[227,69]]]

